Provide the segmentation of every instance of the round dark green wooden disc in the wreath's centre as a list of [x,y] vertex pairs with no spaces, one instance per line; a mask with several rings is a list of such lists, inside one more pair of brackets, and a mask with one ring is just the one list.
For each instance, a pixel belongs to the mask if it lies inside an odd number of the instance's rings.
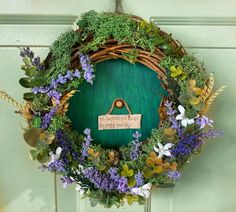
[[[157,74],[148,67],[125,60],[108,60],[96,64],[94,84],[82,83],[71,98],[68,116],[79,133],[91,128],[94,143],[118,148],[132,140],[136,129],[98,130],[98,116],[106,114],[116,98],[124,99],[134,114],[142,114],[142,139],[150,136],[159,123],[158,107],[166,91]],[[112,114],[128,114],[115,108]]]

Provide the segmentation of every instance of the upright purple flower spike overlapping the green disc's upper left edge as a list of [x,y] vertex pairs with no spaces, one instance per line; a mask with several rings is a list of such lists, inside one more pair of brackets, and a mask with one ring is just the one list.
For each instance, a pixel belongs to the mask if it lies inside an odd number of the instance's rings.
[[84,71],[84,79],[88,83],[93,84],[93,79],[95,78],[95,75],[93,74],[94,69],[93,69],[93,66],[91,65],[89,56],[79,53],[79,57],[80,57],[81,67]]

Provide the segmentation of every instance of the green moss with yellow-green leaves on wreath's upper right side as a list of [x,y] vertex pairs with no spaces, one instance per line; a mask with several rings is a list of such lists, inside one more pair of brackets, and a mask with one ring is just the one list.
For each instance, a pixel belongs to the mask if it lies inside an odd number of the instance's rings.
[[[167,69],[168,81],[170,88],[175,91],[175,96],[177,101],[182,104],[186,109],[186,114],[188,118],[196,117],[197,113],[204,107],[203,102],[197,104],[191,104],[190,99],[195,98],[195,94],[190,90],[190,80],[196,82],[196,86],[199,89],[203,89],[206,80],[208,79],[208,74],[205,72],[203,64],[200,63],[192,55],[185,55],[182,58],[177,57],[166,57],[160,63],[161,67]],[[171,71],[172,70],[172,71]],[[173,71],[176,70],[176,73]],[[178,70],[182,72],[177,73]],[[173,78],[173,73],[178,76],[178,74],[185,73],[185,78],[181,79],[179,77]],[[172,77],[171,77],[172,76]]]

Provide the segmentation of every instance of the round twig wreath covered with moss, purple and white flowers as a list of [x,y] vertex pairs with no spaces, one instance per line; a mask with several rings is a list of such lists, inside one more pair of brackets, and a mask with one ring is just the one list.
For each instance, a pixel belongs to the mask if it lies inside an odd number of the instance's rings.
[[[142,204],[150,190],[172,186],[183,166],[198,153],[206,138],[220,136],[206,116],[216,96],[214,78],[203,64],[153,23],[119,13],[89,11],[78,29],[61,35],[41,62],[29,47],[21,49],[29,88],[26,103],[17,103],[1,91],[1,98],[16,106],[27,121],[24,139],[30,157],[42,170],[56,172],[63,186],[76,189],[105,207],[127,200]],[[167,91],[159,107],[160,123],[141,141],[139,131],[119,149],[95,144],[93,132],[79,134],[67,116],[69,100],[81,83],[96,80],[96,64],[110,59],[141,63],[156,72]],[[118,102],[119,104],[122,102]]]

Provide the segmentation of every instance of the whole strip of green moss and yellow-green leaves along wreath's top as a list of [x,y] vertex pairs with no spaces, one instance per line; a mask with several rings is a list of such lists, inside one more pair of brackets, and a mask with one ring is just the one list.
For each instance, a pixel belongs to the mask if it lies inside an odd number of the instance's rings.
[[77,24],[82,31],[82,40],[93,37],[81,49],[82,52],[96,51],[107,39],[115,39],[119,43],[139,46],[151,52],[160,47],[168,54],[173,53],[169,35],[161,35],[159,28],[154,24],[145,21],[139,23],[127,14],[89,11]]

